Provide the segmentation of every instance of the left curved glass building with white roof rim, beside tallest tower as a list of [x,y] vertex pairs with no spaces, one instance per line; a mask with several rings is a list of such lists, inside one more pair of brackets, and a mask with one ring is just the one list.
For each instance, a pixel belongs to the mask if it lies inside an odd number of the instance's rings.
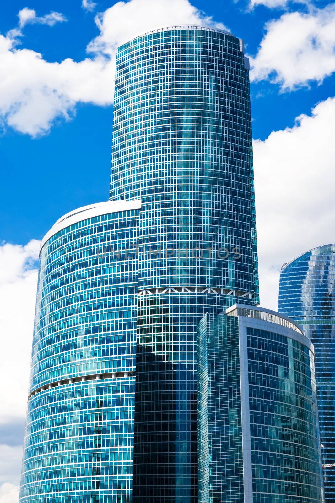
[[140,205],[132,207],[81,208],[41,249],[20,503],[132,501]]

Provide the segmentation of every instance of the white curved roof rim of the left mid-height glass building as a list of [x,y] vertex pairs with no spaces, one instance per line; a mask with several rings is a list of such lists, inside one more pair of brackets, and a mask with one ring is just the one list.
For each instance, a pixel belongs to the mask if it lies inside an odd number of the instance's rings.
[[50,237],[57,234],[57,232],[59,232],[60,230],[65,229],[65,227],[73,225],[74,223],[81,222],[82,220],[86,220],[87,218],[105,215],[106,213],[137,210],[141,209],[141,207],[142,201],[136,199],[133,201],[104,201],[102,203],[88,204],[87,206],[81,206],[80,208],[69,211],[68,213],[65,213],[65,215],[60,217],[42,238],[40,251],[45,243],[50,239]]

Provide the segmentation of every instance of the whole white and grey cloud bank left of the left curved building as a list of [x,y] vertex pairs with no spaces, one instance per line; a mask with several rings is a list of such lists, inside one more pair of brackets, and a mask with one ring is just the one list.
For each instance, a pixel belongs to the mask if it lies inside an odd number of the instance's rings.
[[37,240],[0,246],[0,503],[19,499],[38,251]]

